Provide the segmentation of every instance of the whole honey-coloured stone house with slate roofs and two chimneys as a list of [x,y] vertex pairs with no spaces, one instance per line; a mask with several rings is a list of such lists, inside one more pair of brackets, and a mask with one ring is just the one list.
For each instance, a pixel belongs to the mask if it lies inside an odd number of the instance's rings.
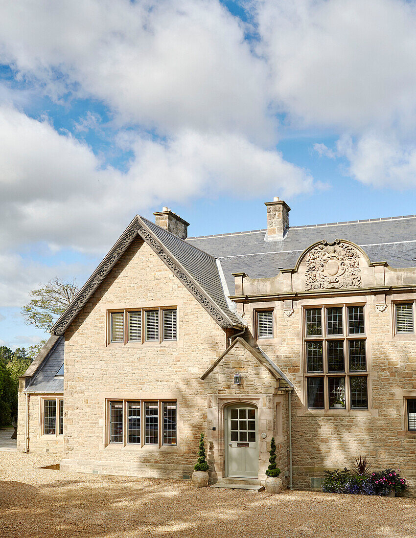
[[286,486],[365,455],[416,491],[416,215],[187,237],[136,216],[20,379],[18,449],[62,469]]

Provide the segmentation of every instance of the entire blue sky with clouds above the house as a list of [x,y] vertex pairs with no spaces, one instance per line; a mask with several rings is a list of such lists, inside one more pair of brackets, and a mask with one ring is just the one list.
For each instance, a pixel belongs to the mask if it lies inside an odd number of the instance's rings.
[[416,10],[401,0],[0,6],[0,342],[131,218],[189,235],[416,213]]

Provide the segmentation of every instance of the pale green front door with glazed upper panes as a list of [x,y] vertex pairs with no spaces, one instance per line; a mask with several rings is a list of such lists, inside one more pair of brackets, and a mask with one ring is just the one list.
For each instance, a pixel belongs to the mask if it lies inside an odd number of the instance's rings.
[[225,465],[227,475],[258,476],[258,414],[247,404],[225,409]]

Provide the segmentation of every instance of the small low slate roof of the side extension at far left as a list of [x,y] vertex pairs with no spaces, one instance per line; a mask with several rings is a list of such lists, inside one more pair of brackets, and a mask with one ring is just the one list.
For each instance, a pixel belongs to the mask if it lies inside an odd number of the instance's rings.
[[[62,336],[52,338],[55,339],[55,342],[30,379],[29,385],[26,387],[27,392],[64,392],[64,377],[55,377],[55,374],[64,363],[65,339]],[[29,369],[25,372],[26,377],[28,371]],[[29,371],[30,373],[31,371]]]

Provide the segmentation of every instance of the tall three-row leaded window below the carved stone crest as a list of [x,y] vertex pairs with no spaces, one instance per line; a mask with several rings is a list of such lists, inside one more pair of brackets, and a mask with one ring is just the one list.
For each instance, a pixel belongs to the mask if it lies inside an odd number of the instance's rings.
[[304,371],[310,409],[368,409],[363,305],[304,309]]

